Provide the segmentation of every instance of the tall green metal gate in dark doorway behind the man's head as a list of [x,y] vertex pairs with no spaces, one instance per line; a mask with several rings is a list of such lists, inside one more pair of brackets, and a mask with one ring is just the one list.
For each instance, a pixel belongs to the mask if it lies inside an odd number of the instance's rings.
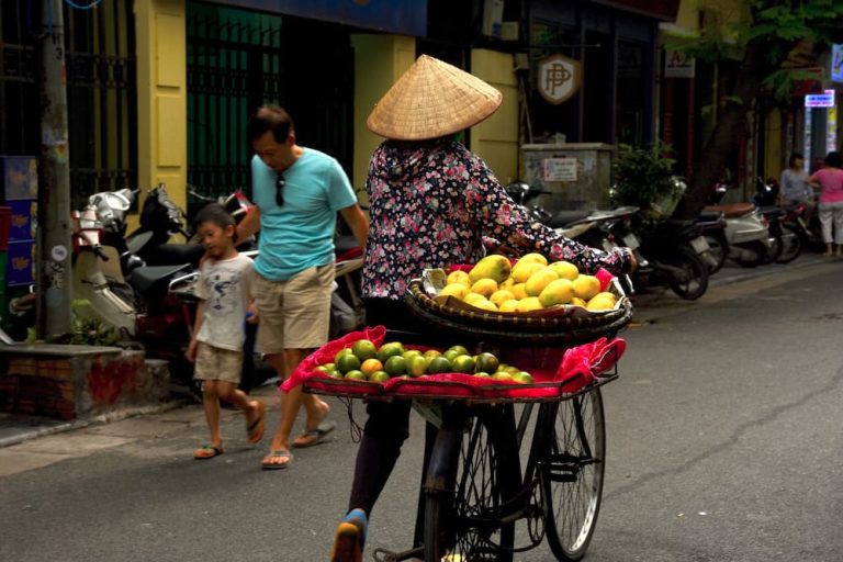
[[[284,106],[299,144],[351,173],[353,52],[346,26],[188,3],[188,183],[204,196],[250,191],[249,114]],[[191,210],[201,202],[188,198]]]

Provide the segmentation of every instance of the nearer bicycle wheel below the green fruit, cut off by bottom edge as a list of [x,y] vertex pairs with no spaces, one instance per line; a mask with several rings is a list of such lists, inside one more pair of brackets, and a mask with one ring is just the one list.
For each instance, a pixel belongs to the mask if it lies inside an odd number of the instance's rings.
[[425,562],[513,560],[515,524],[502,522],[501,515],[520,484],[518,453],[497,422],[482,414],[469,419],[453,485],[428,492],[425,501]]

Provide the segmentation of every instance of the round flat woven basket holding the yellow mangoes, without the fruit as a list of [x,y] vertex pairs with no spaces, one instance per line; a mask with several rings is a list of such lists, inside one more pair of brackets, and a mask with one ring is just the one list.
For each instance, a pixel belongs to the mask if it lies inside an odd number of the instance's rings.
[[420,319],[440,329],[477,339],[582,344],[614,336],[632,319],[632,304],[621,297],[615,310],[591,316],[531,316],[446,306],[425,293],[420,280],[409,283],[406,302]]

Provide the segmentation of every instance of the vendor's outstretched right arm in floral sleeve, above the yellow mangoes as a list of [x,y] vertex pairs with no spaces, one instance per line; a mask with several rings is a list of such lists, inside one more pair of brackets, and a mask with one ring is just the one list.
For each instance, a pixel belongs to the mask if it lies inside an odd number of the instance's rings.
[[477,159],[479,170],[471,173],[467,187],[467,206],[475,214],[479,224],[487,224],[486,234],[509,246],[537,251],[552,260],[565,260],[581,270],[593,273],[606,268],[612,273],[632,271],[634,257],[629,248],[615,248],[610,252],[591,248],[532,221],[506,194],[501,183]]

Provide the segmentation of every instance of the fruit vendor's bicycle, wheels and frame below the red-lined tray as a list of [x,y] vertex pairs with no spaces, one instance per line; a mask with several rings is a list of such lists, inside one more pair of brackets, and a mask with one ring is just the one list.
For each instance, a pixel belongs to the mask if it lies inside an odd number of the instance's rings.
[[[617,371],[561,401],[521,403],[517,422],[516,401],[437,401],[441,423],[423,485],[420,543],[417,522],[415,548],[375,549],[375,560],[508,562],[546,537],[558,560],[582,559],[603,492],[600,386],[616,378]],[[521,452],[528,453],[524,471]],[[520,520],[526,544],[516,544]]]

